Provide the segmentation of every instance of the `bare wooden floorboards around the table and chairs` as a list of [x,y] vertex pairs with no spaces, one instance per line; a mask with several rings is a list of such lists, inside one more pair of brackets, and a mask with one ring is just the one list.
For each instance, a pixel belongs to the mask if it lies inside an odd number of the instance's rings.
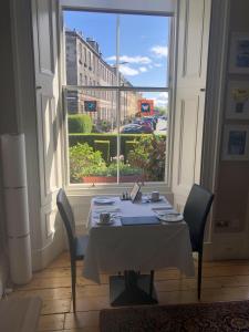
[[[81,277],[77,266],[77,312],[72,313],[70,260],[65,252],[49,268],[33,274],[33,280],[14,290],[11,297],[39,295],[43,300],[39,331],[98,331],[98,313],[110,308],[108,276],[95,284]],[[201,301],[230,301],[249,299],[249,261],[206,262],[203,270]],[[175,269],[155,273],[159,303],[197,302],[196,279],[180,278]]]

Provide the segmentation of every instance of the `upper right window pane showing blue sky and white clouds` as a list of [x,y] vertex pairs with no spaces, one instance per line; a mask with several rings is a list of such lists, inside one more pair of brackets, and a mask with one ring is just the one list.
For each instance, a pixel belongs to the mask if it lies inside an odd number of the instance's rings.
[[155,15],[121,15],[120,71],[132,85],[168,85],[169,20]]

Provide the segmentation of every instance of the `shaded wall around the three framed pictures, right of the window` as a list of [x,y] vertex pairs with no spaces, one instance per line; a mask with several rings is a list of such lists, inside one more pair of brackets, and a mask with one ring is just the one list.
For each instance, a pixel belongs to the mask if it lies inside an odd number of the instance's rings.
[[[249,33],[249,1],[231,0],[227,54],[231,32]],[[225,91],[222,95],[222,132],[225,124],[246,124],[249,121],[226,120],[226,87],[229,80],[247,80],[249,75],[230,74],[228,72],[229,59],[227,59],[225,73]],[[224,59],[226,61],[226,59]],[[222,136],[220,142],[220,155],[222,152]],[[248,258],[249,257],[249,162],[227,162],[219,157],[218,177],[216,186],[216,199],[214,205],[212,222],[212,257],[221,258]],[[228,221],[228,227],[219,227],[218,224]]]

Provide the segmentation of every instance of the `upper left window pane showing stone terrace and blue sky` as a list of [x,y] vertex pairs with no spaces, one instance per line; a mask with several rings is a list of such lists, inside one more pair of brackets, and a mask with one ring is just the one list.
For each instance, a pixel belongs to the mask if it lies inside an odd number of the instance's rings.
[[111,85],[111,80],[115,82],[115,68],[105,59],[116,52],[116,15],[69,10],[63,13],[66,84],[81,85],[76,75],[80,72],[85,85]]

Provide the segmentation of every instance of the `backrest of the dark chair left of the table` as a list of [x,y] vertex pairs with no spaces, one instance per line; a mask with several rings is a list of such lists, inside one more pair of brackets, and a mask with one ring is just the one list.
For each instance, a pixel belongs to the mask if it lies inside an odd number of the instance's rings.
[[69,199],[65,195],[65,191],[61,188],[56,196],[56,205],[63,224],[66,229],[66,235],[70,245],[70,253],[75,255],[75,224],[74,216],[69,203]]

